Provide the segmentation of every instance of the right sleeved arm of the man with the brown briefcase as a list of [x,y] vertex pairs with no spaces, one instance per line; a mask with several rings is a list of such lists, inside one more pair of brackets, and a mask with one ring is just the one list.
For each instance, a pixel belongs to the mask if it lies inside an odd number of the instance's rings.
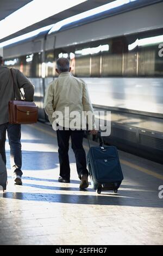
[[34,86],[20,70],[16,72],[18,87],[24,90],[24,98],[26,101],[34,101]]

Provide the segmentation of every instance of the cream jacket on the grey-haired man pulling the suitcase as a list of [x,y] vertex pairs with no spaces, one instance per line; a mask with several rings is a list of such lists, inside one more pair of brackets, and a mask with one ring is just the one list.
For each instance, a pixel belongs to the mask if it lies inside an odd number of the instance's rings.
[[[86,128],[84,111],[92,113],[93,118],[88,119],[88,124],[89,127],[92,126],[92,129],[95,128],[95,118],[87,86],[83,80],[74,77],[70,72],[62,72],[56,80],[49,84],[43,107],[53,128],[59,124],[72,129],[72,121],[76,117],[74,111],[79,113],[78,117],[80,116],[80,122],[75,124],[76,129]],[[62,113],[63,118],[58,115],[58,111]]]

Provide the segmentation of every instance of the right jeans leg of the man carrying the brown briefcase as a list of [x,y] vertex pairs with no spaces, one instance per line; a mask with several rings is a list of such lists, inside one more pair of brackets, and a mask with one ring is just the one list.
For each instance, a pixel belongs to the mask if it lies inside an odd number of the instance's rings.
[[21,125],[8,124],[8,138],[10,144],[10,163],[12,172],[22,176],[22,150],[21,150]]

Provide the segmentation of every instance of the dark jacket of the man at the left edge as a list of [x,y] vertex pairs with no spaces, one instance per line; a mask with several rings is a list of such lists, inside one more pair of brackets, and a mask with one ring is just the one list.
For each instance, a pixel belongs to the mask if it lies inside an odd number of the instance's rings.
[[[33,84],[29,82],[28,78],[24,76],[21,71],[18,69],[12,70],[15,84],[17,84],[17,88],[15,88],[16,100],[21,99],[19,89],[23,88],[25,99],[27,101],[33,101]],[[14,100],[12,76],[10,69],[8,69],[6,66],[0,65],[0,125],[8,123],[9,121],[8,105],[10,100]]]

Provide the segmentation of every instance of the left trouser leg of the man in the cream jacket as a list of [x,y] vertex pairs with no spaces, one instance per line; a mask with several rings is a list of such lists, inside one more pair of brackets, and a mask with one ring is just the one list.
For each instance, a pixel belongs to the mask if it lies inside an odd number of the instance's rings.
[[68,158],[70,131],[57,130],[60,176],[70,179],[70,162]]

